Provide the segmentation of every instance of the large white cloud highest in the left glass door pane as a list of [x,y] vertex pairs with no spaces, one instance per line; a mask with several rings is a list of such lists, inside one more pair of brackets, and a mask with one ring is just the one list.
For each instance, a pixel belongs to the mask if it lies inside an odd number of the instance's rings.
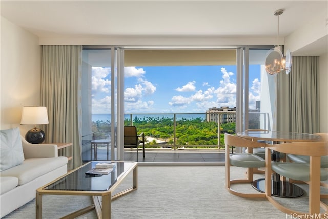
[[111,68],[107,67],[92,67],[91,89],[92,94],[109,93],[111,88],[111,81],[105,79],[111,72]]

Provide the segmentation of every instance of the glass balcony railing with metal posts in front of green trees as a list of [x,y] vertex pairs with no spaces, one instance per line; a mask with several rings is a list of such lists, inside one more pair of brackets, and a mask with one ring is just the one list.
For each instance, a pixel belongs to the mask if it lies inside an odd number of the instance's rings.
[[[250,113],[250,128],[268,126],[266,113]],[[93,114],[96,138],[110,136],[110,114]],[[144,132],[146,148],[224,148],[224,133],[235,133],[235,111],[218,113],[127,113],[126,126]]]

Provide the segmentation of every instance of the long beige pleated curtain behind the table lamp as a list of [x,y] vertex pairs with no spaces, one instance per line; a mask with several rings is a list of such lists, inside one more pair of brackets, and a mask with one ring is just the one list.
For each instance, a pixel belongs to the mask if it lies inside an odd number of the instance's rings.
[[48,109],[44,127],[46,142],[72,142],[59,152],[72,156],[69,169],[82,164],[81,157],[81,54],[82,46],[42,47],[41,104]]

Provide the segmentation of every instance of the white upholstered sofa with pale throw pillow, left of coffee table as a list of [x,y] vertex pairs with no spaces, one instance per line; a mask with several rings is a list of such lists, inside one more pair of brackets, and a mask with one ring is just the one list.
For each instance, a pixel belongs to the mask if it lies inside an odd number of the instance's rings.
[[[37,188],[67,173],[68,160],[58,157],[57,145],[28,143],[18,128],[1,130],[0,135],[0,217],[4,217],[33,200]],[[17,157],[20,161],[8,166]]]

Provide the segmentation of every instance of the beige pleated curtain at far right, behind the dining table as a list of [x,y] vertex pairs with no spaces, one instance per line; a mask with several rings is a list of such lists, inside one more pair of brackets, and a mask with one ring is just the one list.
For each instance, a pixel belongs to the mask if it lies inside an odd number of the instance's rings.
[[320,132],[319,57],[293,57],[289,76],[290,131]]

